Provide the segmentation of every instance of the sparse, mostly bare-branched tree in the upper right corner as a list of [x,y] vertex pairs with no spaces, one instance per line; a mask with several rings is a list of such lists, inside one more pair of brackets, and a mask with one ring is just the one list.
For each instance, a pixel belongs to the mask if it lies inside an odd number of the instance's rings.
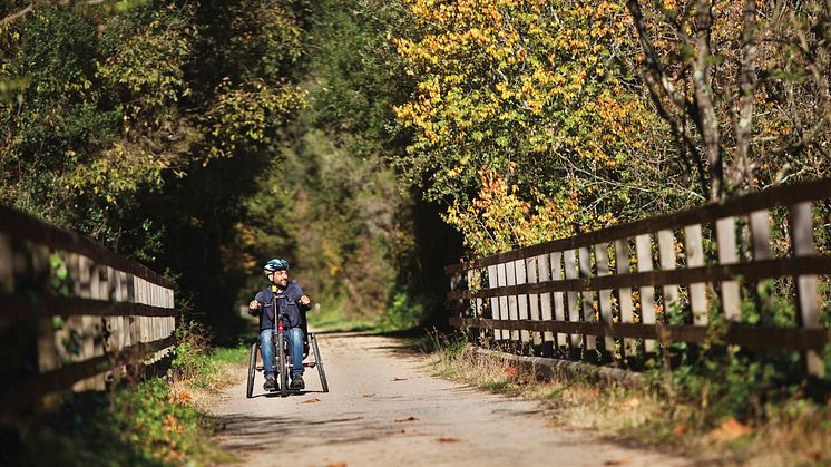
[[629,0],[627,8],[643,81],[711,201],[828,173],[821,163],[831,135],[828,3],[695,0],[644,8]]

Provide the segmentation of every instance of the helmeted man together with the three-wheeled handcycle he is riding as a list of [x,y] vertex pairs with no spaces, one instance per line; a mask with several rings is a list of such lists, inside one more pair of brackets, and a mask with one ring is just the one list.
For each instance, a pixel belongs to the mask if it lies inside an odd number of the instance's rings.
[[[258,339],[251,347],[248,359],[248,385],[246,396],[252,397],[254,376],[256,373],[257,347],[262,351],[263,374],[266,391],[280,391],[283,397],[289,389],[302,390],[304,368],[317,368],[323,391],[329,392],[323,362],[320,358],[317,339],[314,333],[306,332],[305,312],[311,307],[311,300],[295,282],[289,281],[289,262],[274,259],[263,267],[268,286],[257,292],[248,303],[248,313],[260,317]],[[310,343],[314,351],[314,361],[303,363],[309,354]],[[280,381],[275,380],[275,372]],[[289,373],[291,372],[291,383]]]

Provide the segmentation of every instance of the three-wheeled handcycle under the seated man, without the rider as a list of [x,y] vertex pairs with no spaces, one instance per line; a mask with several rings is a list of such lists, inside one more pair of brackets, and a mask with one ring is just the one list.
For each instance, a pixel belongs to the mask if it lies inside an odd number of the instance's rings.
[[[277,309],[278,307],[274,307]],[[275,310],[276,314],[276,310]],[[289,354],[289,341],[285,339],[284,330],[283,330],[283,320],[282,320],[282,313],[280,319],[276,319],[275,322],[277,323],[276,328],[273,330],[274,332],[274,339],[272,339],[273,344],[275,347],[274,352],[274,360],[271,362],[272,368],[274,369],[274,372],[277,373],[280,382],[280,396],[286,397],[289,396],[289,374],[292,370],[292,367],[295,364],[292,362],[291,356]],[[317,374],[321,378],[321,386],[323,387],[323,392],[329,392],[329,382],[326,381],[326,373],[323,369],[323,360],[321,359],[321,352],[320,348],[317,347],[317,337],[314,332],[310,333],[306,332],[306,325],[305,320],[303,320],[303,368],[316,368]],[[309,357],[309,350],[312,350],[314,353],[314,361],[305,361],[305,359]],[[254,339],[254,342],[251,344],[250,353],[248,353],[248,385],[245,390],[245,397],[251,399],[254,395],[254,379],[256,377],[257,371],[263,371],[265,369],[266,362],[263,362],[263,366],[257,366],[257,354],[260,354],[260,339],[258,337]]]

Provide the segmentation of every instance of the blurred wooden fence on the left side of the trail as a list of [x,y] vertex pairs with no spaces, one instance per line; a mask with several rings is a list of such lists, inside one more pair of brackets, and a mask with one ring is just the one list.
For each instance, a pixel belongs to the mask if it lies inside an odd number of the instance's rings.
[[102,390],[174,344],[175,284],[72,232],[0,206],[0,412]]

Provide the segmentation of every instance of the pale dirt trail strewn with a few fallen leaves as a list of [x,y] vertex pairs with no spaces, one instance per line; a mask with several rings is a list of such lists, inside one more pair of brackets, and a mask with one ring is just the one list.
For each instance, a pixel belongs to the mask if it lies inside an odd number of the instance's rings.
[[548,427],[538,403],[430,377],[398,340],[319,334],[331,392],[316,370],[285,399],[245,398],[245,376],[214,408],[219,442],[250,466],[686,465],[580,430]]

